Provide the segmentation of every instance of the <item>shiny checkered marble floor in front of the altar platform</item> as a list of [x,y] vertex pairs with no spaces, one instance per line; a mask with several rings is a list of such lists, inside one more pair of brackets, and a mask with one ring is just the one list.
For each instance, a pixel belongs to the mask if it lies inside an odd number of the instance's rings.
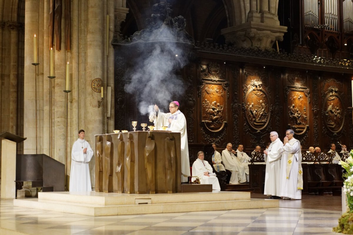
[[0,200],[0,234],[335,234],[340,201],[337,196],[303,195],[303,200],[280,200],[280,207],[270,209],[93,217],[14,207],[12,200]]

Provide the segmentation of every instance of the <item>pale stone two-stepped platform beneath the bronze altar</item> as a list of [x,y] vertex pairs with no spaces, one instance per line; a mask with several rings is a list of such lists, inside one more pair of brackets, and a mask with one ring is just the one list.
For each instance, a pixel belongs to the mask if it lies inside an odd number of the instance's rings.
[[89,216],[214,211],[278,207],[278,200],[250,199],[249,192],[119,194],[40,192],[14,199],[14,206]]

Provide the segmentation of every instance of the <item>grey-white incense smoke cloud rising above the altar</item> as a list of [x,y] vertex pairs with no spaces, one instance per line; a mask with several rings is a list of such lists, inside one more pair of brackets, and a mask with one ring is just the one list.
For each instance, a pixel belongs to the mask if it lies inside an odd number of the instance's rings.
[[154,104],[160,109],[167,108],[172,99],[181,100],[185,93],[186,85],[177,71],[188,63],[187,53],[174,35],[165,25],[144,34],[146,42],[141,43],[139,56],[126,73],[130,82],[125,85],[125,91],[136,94],[142,115],[153,112]]

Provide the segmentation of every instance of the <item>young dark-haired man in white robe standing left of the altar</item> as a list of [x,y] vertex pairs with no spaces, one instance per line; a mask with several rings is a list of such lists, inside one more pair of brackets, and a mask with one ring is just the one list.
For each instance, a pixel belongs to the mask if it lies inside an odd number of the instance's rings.
[[84,130],[78,131],[78,137],[72,145],[69,190],[70,192],[92,191],[88,163],[93,156],[93,150],[84,139]]

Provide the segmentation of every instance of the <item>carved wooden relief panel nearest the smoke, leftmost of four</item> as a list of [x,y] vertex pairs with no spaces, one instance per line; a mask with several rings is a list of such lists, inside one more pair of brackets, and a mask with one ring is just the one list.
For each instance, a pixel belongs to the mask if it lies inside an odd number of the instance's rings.
[[201,65],[201,122],[211,132],[219,132],[227,123],[228,83],[220,66]]

